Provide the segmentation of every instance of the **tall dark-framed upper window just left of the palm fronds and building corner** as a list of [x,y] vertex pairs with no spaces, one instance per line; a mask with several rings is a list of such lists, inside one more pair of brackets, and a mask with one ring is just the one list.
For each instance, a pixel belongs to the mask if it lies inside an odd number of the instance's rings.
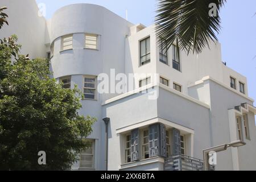
[[144,65],[150,63],[150,37],[140,42],[141,47],[141,60],[140,65]]

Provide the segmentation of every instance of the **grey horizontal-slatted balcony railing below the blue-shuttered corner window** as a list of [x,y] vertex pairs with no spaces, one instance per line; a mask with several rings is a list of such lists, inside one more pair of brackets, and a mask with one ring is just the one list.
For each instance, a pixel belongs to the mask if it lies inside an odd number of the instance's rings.
[[[203,160],[185,155],[173,155],[164,160],[164,171],[203,171]],[[214,166],[211,166],[214,171]]]

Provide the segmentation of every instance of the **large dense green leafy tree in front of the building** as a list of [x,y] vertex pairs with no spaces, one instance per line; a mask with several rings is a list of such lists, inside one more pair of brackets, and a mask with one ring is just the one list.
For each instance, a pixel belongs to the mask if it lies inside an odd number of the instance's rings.
[[[19,55],[16,41],[0,44],[0,169],[69,169],[96,119],[77,113],[77,87],[63,89],[50,78],[49,61]],[[38,164],[39,151],[46,152],[46,165]]]

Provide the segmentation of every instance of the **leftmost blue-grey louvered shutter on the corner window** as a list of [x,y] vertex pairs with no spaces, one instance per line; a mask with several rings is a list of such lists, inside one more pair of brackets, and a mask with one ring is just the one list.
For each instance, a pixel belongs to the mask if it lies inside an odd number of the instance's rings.
[[139,129],[131,131],[131,161],[139,159],[138,151]]

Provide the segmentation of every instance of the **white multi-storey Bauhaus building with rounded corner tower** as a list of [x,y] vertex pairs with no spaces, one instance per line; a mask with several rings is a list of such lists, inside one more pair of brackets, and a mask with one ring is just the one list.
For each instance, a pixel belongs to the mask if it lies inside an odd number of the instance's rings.
[[[201,170],[204,149],[236,140],[246,145],[218,153],[215,170],[256,170],[254,100],[246,77],[222,63],[220,43],[199,55],[164,51],[155,25],[101,6],[65,6],[46,20],[34,0],[0,2],[10,24],[0,38],[16,34],[22,53],[51,59],[56,81],[84,93],[79,113],[98,120],[73,170]],[[114,77],[109,92],[97,86],[102,73]],[[123,93],[112,90],[118,73],[137,75]]]

